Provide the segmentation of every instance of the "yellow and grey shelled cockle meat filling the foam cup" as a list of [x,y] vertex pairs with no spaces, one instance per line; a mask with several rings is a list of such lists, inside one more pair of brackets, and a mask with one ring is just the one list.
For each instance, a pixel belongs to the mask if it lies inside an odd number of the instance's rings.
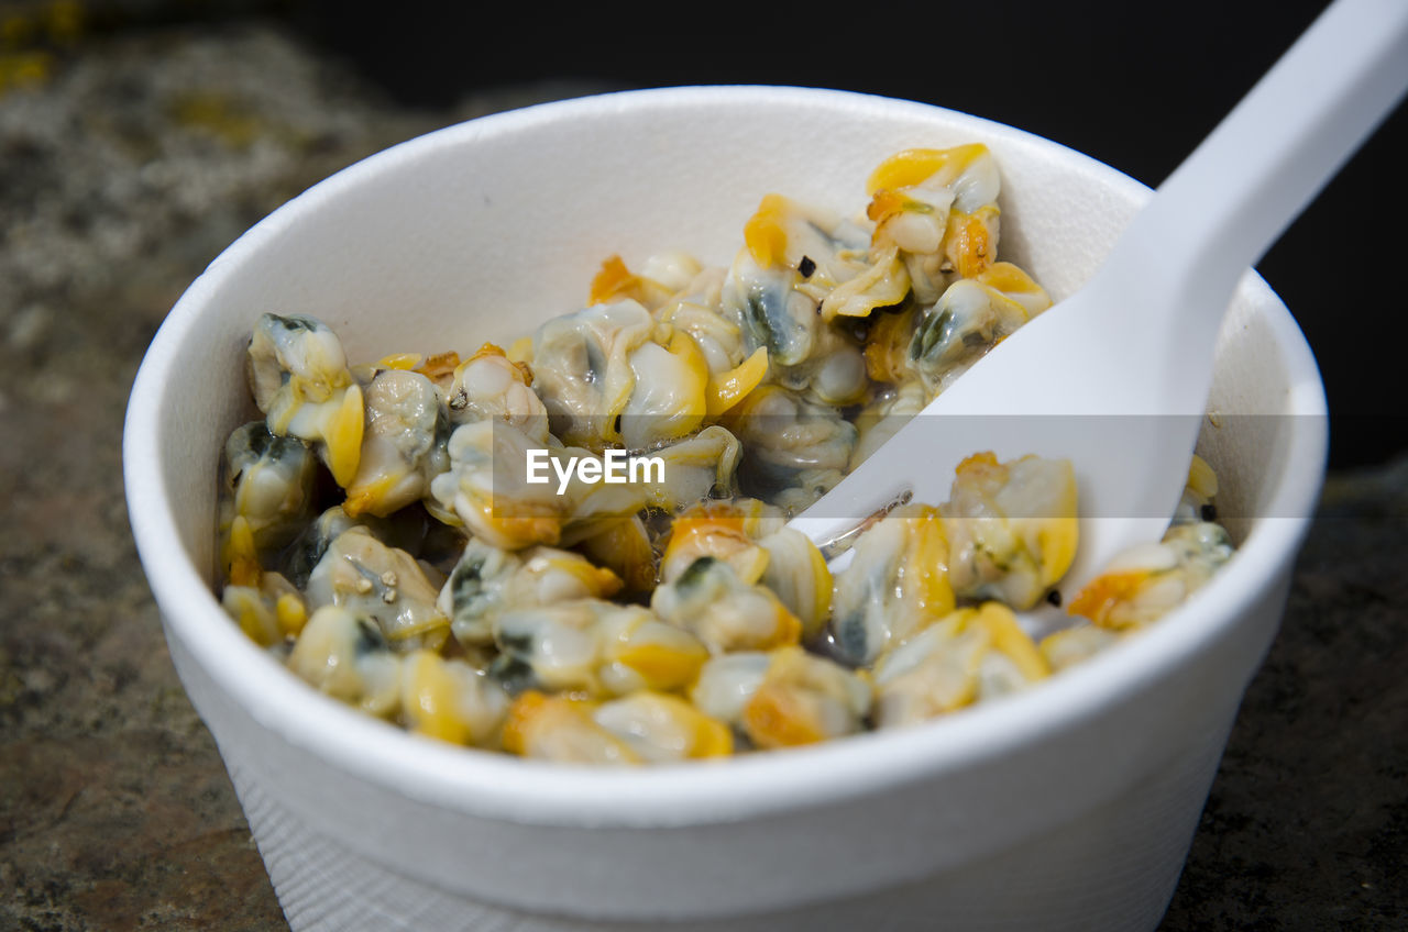
[[603,262],[586,306],[467,358],[353,363],[266,313],[227,441],[221,601],[315,688],[559,762],[805,745],[1024,690],[1232,555],[1194,459],[1162,542],[1033,639],[1079,546],[1069,462],[976,452],[832,572],[787,519],[1050,306],[998,259],[983,145],[908,149],[838,217],[780,194],[729,267]]

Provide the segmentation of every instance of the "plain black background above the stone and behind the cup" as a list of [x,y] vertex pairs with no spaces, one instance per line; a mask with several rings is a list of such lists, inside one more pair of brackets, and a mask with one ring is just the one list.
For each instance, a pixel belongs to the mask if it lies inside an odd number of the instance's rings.
[[[1157,186],[1326,6],[1319,0],[573,4],[194,0],[125,15],[277,18],[407,106],[524,82],[784,83],[908,97],[1008,122]],[[101,10],[101,4],[96,4]],[[144,13],[145,11],[145,13]],[[1326,383],[1331,466],[1408,449],[1400,279],[1404,107],[1257,270]]]

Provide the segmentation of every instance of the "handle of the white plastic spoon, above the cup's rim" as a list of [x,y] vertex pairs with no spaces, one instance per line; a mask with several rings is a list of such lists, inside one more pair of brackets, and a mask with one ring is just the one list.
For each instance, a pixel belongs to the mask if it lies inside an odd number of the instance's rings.
[[1173,297],[1160,339],[1211,366],[1208,346],[1240,275],[1405,89],[1408,1],[1331,4],[1164,180],[1091,284]]

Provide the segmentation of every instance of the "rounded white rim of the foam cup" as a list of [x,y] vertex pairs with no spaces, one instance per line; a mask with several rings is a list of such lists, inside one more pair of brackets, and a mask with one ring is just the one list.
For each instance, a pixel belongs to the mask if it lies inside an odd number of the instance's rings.
[[1307,415],[1297,418],[1286,472],[1266,507],[1269,515],[1284,517],[1259,518],[1235,559],[1162,624],[1087,660],[1079,674],[1053,676],[1038,690],[912,728],[867,732],[810,748],[652,767],[586,767],[522,760],[406,732],[318,693],[230,624],[204,573],[182,545],[175,503],[166,494],[159,413],[168,376],[201,308],[249,256],[320,203],[439,146],[470,144],[484,134],[521,132],[563,115],[758,100],[824,106],[834,111],[938,115],[987,137],[1036,144],[1063,159],[1084,163],[1125,194],[1150,193],[1129,176],[1062,144],[960,111],[859,92],[769,84],[655,87],[534,104],[435,130],[314,184],[241,235],[177,300],[137,373],[122,435],[128,515],[168,636],[177,638],[218,688],[263,729],[367,783],[482,818],[618,826],[736,821],[934,779],[1095,715],[1139,683],[1176,669],[1233,626],[1239,614],[1290,563],[1308,528],[1307,515],[1324,476],[1326,405],[1304,335],[1284,304],[1252,273],[1242,287],[1260,293],[1259,300],[1269,308],[1266,322],[1293,383],[1288,410]]

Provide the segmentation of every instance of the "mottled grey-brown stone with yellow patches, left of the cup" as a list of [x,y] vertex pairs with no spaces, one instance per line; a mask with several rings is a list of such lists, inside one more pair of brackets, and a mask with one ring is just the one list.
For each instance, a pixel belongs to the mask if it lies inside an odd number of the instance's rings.
[[132,377],[191,279],[308,184],[584,90],[415,113],[246,24],[87,39],[0,94],[0,929],[287,928],[137,560]]

